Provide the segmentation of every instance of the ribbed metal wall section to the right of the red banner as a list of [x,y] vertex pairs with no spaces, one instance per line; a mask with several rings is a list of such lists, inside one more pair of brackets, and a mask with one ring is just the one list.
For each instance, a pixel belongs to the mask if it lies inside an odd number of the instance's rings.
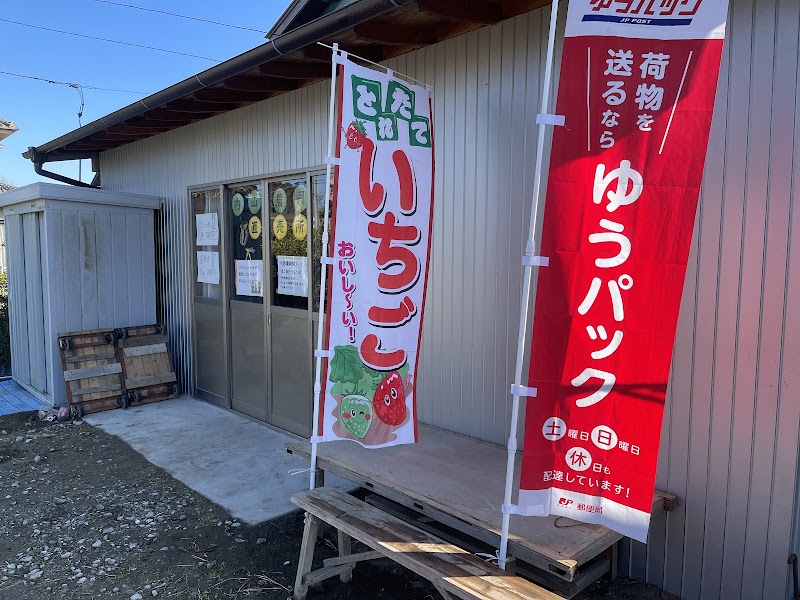
[[627,549],[632,572],[682,598],[788,595],[799,33],[796,0],[731,2],[659,465],[658,486],[684,501],[646,550]]

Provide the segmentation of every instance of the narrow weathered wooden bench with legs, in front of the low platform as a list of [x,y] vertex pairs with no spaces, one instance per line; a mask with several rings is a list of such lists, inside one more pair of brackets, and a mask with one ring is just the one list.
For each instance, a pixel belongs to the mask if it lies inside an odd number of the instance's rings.
[[[560,596],[503,571],[379,508],[339,490],[317,488],[292,496],[306,511],[303,544],[297,565],[295,600],[305,600],[308,587],[330,577],[352,579],[358,562],[387,557],[428,579],[445,600],[563,600]],[[311,570],[321,523],[338,531],[339,556]],[[351,553],[352,539],[371,551]]]

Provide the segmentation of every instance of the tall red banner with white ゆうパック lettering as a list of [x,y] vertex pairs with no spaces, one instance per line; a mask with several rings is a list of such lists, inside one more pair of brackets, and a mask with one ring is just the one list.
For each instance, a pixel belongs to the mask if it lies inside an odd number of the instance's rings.
[[647,540],[727,0],[570,0],[519,504]]

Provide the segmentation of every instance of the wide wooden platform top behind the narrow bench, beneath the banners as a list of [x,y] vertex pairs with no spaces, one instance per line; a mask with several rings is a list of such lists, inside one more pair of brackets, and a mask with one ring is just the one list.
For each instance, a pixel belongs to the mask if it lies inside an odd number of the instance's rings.
[[[506,449],[426,425],[420,425],[419,437],[418,444],[370,450],[344,441],[319,444],[318,466],[499,547]],[[285,449],[310,458],[308,441],[289,442]],[[657,492],[653,509],[663,508],[665,498],[674,500]],[[581,565],[622,538],[565,517],[514,515],[509,553],[572,581]]]

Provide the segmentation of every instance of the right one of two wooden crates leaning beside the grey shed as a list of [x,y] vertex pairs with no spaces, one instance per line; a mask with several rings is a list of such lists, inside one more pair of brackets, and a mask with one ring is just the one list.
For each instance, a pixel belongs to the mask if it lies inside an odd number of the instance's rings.
[[175,398],[178,378],[162,325],[114,330],[127,405]]

